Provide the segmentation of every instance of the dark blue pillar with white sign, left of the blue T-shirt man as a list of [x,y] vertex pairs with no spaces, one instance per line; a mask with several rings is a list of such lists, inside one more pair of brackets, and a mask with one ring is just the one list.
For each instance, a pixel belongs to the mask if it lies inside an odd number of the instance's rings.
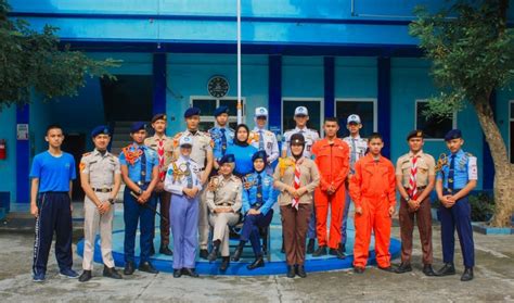
[[[28,124],[29,105],[16,108],[16,124]],[[29,163],[30,163],[30,144],[29,140],[16,139],[16,202],[30,202],[30,180]]]

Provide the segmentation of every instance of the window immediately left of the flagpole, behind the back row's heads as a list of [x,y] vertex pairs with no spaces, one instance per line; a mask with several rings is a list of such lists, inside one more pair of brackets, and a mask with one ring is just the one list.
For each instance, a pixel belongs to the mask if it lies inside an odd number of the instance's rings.
[[[243,103],[243,121],[245,115],[245,99],[242,98]],[[229,125],[232,128],[237,126],[237,99],[236,98],[223,98],[214,99],[210,97],[192,97],[191,105],[198,108],[201,111],[200,116],[200,130],[207,131],[209,128],[215,126],[216,118],[214,112],[218,106],[226,105],[229,108]]]

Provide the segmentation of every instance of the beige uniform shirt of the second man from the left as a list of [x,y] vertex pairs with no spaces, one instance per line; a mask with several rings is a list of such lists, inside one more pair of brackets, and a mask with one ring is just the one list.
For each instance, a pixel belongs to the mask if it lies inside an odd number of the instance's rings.
[[102,155],[98,150],[85,153],[80,160],[80,173],[89,175],[89,185],[94,189],[113,188],[114,176],[121,174],[119,160],[110,152]]

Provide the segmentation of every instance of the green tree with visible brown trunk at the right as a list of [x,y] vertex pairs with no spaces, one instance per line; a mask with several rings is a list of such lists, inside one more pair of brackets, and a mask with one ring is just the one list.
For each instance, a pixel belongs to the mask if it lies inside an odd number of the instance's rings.
[[507,87],[514,75],[514,35],[506,26],[507,0],[453,1],[431,14],[417,8],[410,34],[431,59],[440,94],[429,102],[433,115],[449,115],[471,104],[478,116],[494,162],[492,226],[511,225],[514,165],[494,122],[491,93]]

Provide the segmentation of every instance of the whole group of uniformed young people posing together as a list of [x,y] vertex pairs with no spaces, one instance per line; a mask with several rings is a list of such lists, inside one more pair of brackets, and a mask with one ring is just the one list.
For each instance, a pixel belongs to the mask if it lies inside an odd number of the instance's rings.
[[[125,275],[136,268],[158,273],[150,257],[154,251],[155,216],[160,220],[159,253],[172,255],[174,277],[197,277],[196,255],[214,262],[221,256],[220,272],[230,261],[241,258],[249,241],[255,260],[249,270],[265,266],[261,233],[273,217],[278,203],[282,217],[283,248],[287,277],[306,277],[306,253],[331,254],[345,258],[349,205],[355,205],[356,239],[354,269],[362,274],[367,266],[371,236],[380,269],[398,274],[412,270],[414,217],[423,252],[423,273],[427,276],[454,275],[454,229],[463,252],[465,270],[461,280],[473,279],[474,243],[467,195],[476,186],[476,157],[462,151],[462,134],[450,130],[445,140],[447,155],[434,157],[423,152],[424,135],[413,130],[407,137],[409,152],[393,163],[382,156],[380,134],[360,137],[362,123],[357,114],[347,118],[349,136],[339,139],[337,118],[326,117],[325,137],[307,128],[308,110],[298,106],[296,127],[283,136],[282,150],[275,135],[266,129],[268,110],[255,110],[255,128],[229,127],[229,110],[215,111],[216,126],[201,131],[200,110],[184,113],[187,129],[166,137],[166,115],[152,118],[153,137],[146,125],[134,123],[132,142],[119,156],[107,151],[110,129],[99,126],[91,132],[92,152],[79,164],[85,198],[85,250],[80,281],[92,277],[94,239],[100,231],[103,275],[121,279],[112,256],[114,204],[121,180],[125,222]],[[46,278],[52,235],[56,232],[55,252],[61,275],[75,278],[72,269],[72,180],[73,156],[61,151],[61,127],[47,129],[49,150],[36,155],[30,172],[30,212],[36,220],[33,274],[35,281]],[[432,267],[432,216],[429,194],[436,188],[441,202],[441,241],[444,267]],[[399,222],[401,263],[390,264],[391,216],[400,195]],[[159,206],[157,210],[157,205]],[[327,217],[330,228],[327,232]],[[140,226],[140,262],[136,266],[134,245]],[[242,225],[239,244],[230,257],[231,228]],[[170,232],[172,248],[169,248]],[[210,236],[210,238],[209,238]],[[210,252],[209,248],[210,243]],[[314,250],[314,239],[318,248]],[[306,245],[307,242],[307,245]],[[200,250],[200,252],[197,251]]]

